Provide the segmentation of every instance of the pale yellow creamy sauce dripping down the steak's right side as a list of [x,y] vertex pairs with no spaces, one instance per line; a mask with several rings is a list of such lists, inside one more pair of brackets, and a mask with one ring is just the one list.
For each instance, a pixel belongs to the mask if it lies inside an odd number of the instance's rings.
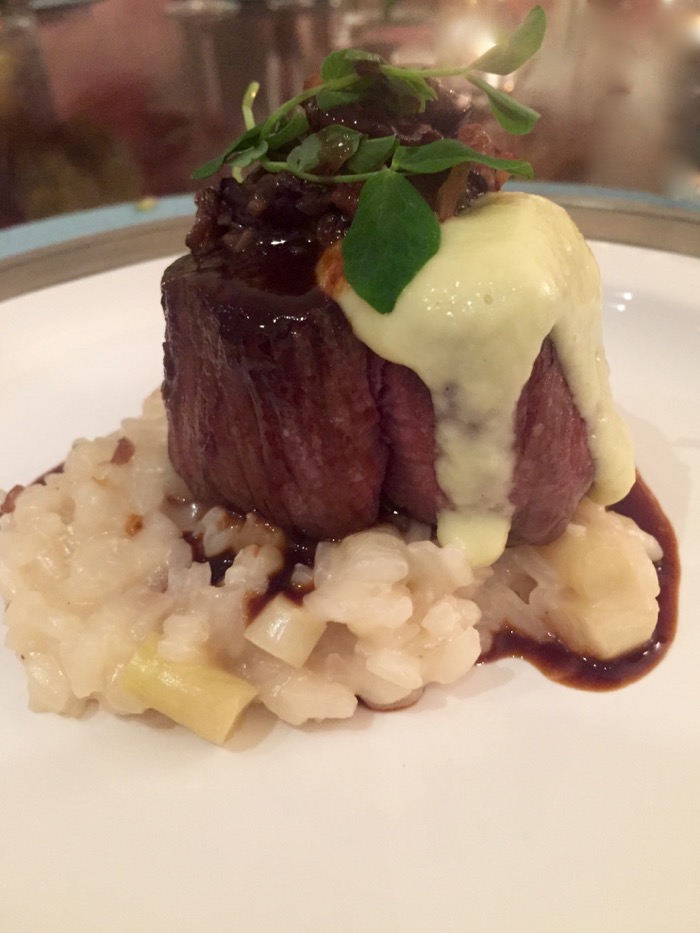
[[441,231],[438,252],[391,314],[349,286],[334,297],[363,343],[430,390],[435,469],[450,502],[438,516],[438,540],[484,566],[506,545],[515,411],[546,337],[587,426],[591,498],[607,505],[626,495],[634,458],[610,392],[598,267],[566,211],[536,195],[499,192]]

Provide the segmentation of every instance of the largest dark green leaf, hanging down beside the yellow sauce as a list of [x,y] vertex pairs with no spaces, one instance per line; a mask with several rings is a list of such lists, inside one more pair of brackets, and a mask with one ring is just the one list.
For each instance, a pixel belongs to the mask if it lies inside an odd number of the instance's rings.
[[369,178],[343,240],[345,278],[361,298],[389,314],[440,245],[440,224],[403,175],[384,169]]

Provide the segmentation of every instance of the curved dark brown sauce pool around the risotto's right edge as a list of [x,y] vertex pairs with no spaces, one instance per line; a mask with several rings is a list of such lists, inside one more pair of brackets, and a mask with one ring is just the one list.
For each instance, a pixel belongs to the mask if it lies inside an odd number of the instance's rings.
[[639,680],[656,667],[676,633],[680,583],[678,543],[671,523],[639,474],[629,495],[613,508],[634,519],[640,528],[656,538],[663,550],[663,557],[656,566],[660,586],[659,620],[648,644],[613,661],[599,661],[579,657],[560,642],[535,642],[504,630],[495,637],[491,649],[480,659],[481,663],[522,658],[551,680],[582,690],[616,690]]

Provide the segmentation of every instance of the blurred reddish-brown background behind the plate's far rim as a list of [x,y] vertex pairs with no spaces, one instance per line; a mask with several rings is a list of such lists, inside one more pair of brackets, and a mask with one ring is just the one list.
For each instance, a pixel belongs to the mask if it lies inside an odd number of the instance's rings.
[[[194,190],[252,79],[262,116],[334,47],[466,64],[533,2],[0,0],[0,226]],[[700,202],[700,0],[543,6],[540,53],[499,79],[542,114],[517,143],[537,179]]]

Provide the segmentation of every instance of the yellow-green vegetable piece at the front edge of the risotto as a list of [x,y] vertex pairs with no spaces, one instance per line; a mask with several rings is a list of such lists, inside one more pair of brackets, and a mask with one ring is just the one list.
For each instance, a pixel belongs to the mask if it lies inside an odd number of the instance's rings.
[[221,745],[257,689],[211,664],[167,661],[147,639],[124,668],[121,684],[150,709]]

